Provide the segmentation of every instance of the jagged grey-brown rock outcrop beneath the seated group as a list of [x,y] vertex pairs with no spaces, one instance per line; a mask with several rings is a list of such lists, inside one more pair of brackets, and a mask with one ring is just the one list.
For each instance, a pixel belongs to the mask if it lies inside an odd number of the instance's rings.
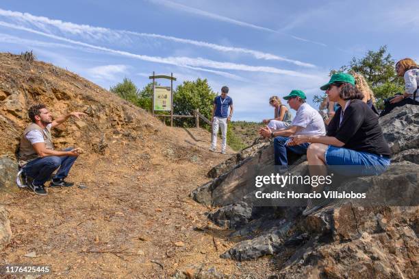
[[[367,196],[386,193],[393,206],[337,199],[307,217],[301,216],[304,207],[257,206],[252,175],[273,164],[270,143],[214,167],[208,173],[214,180],[192,197],[218,206],[208,218],[233,230],[228,237],[237,243],[220,256],[243,262],[270,255],[272,278],[417,278],[419,106],[396,108],[380,125],[393,154],[390,169],[377,177],[349,178],[341,188],[366,186]],[[307,173],[305,156],[290,160],[291,173]]]

